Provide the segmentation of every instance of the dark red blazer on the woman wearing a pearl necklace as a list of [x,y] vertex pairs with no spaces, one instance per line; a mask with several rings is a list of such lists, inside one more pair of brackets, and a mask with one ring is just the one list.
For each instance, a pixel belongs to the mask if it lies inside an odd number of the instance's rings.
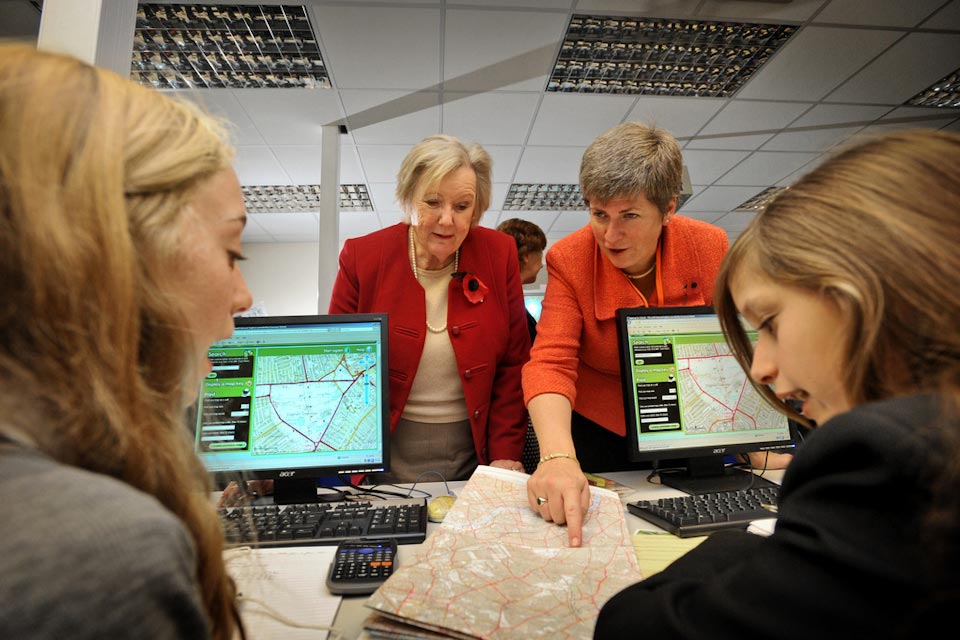
[[[427,333],[426,297],[410,269],[409,226],[401,223],[347,240],[333,284],[330,313],[389,314],[390,430],[397,426],[417,373]],[[520,460],[527,414],[520,371],[530,355],[517,245],[486,227],[470,230],[460,271],[490,291],[473,304],[450,279],[447,334],[463,384],[480,464]]]

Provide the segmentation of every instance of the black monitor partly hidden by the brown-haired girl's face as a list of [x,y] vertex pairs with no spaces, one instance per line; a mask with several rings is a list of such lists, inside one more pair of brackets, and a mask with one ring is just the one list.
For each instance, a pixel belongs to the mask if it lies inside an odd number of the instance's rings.
[[668,467],[661,482],[692,494],[769,484],[725,458],[795,443],[786,416],[737,363],[713,308],[619,309],[617,331],[628,458]]

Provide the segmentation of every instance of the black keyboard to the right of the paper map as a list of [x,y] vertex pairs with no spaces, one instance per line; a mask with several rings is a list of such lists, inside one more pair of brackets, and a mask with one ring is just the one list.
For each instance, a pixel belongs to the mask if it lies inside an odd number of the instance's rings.
[[779,498],[780,487],[753,487],[628,502],[627,510],[676,536],[689,538],[722,529],[746,529],[753,520],[775,518]]

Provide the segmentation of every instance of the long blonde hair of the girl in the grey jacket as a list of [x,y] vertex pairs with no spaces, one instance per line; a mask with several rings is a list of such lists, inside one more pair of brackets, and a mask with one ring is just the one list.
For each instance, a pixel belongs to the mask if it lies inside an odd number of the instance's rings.
[[239,628],[184,405],[168,273],[193,189],[229,167],[196,109],[73,58],[0,47],[3,433],[155,496],[189,529],[214,637]]

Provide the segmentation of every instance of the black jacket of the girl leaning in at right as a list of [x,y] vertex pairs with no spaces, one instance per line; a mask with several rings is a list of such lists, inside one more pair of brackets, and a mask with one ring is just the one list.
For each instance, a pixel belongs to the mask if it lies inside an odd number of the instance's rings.
[[595,637],[889,637],[929,593],[918,413],[856,410],[818,429],[786,471],[772,536],[712,535],[611,599]]

